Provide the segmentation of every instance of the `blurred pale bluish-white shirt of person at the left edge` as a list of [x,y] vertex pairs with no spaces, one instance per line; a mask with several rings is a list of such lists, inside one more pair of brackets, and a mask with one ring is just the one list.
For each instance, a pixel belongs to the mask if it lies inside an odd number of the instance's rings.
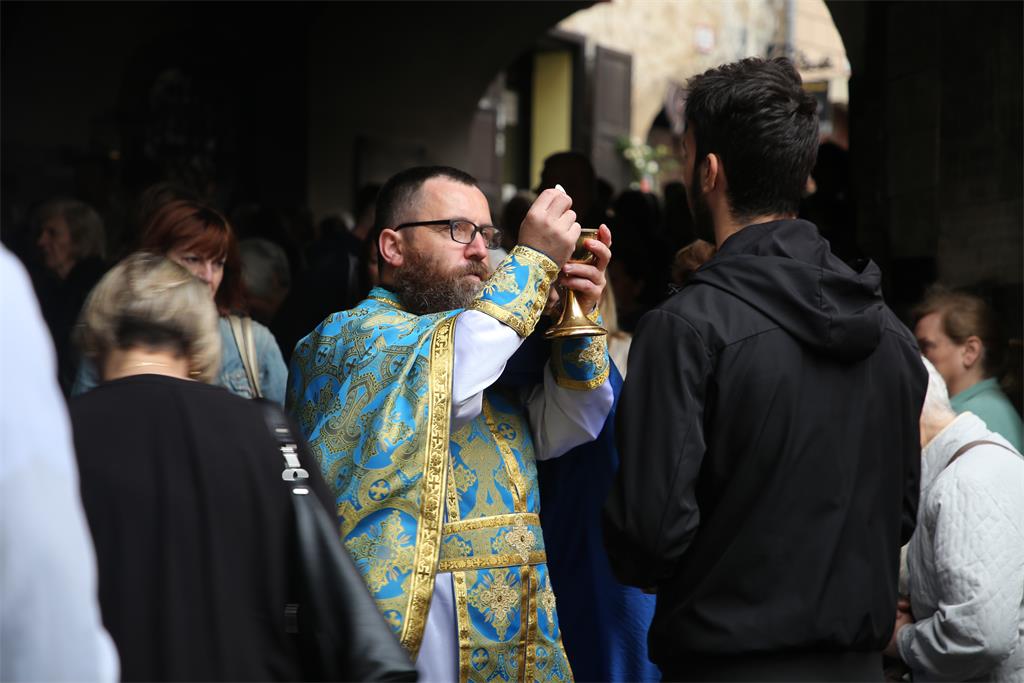
[[0,248],[0,680],[116,681],[53,344]]

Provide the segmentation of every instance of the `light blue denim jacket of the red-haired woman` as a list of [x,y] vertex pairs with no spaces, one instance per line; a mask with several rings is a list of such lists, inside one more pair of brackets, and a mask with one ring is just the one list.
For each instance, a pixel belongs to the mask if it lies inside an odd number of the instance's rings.
[[[217,386],[244,398],[252,398],[246,369],[242,365],[242,355],[231,334],[231,325],[226,317],[220,318],[220,372],[217,374]],[[285,384],[288,381],[288,367],[281,356],[281,348],[273,335],[265,327],[253,321],[253,346],[256,347],[256,359],[259,365],[259,386],[263,396],[276,403],[285,404]],[[96,367],[83,358],[75,378],[75,386],[71,395],[85,393],[99,384],[99,372]]]

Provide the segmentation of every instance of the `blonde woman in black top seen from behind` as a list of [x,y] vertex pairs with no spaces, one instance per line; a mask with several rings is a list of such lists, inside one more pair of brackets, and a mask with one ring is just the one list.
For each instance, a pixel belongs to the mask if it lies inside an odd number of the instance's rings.
[[300,578],[284,460],[261,407],[204,383],[220,367],[217,322],[208,285],[139,252],[99,282],[78,329],[102,383],[69,410],[125,681],[303,678],[286,632]]

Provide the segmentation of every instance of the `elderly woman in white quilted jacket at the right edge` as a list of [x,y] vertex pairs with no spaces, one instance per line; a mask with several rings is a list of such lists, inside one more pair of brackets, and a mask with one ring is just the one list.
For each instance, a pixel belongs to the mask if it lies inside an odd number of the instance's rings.
[[976,416],[956,416],[925,366],[911,610],[898,610],[886,653],[914,681],[1024,681],[1024,459]]

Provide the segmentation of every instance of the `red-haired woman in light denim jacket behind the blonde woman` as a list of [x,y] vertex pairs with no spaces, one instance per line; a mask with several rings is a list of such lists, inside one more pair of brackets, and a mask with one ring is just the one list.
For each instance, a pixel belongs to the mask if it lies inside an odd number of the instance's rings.
[[[288,368],[269,330],[242,315],[242,261],[238,239],[227,220],[199,202],[169,202],[150,218],[138,249],[167,256],[210,287],[220,312],[222,342],[215,384],[240,396],[261,395],[284,403]],[[83,362],[72,393],[88,391],[98,382],[96,368]]]

